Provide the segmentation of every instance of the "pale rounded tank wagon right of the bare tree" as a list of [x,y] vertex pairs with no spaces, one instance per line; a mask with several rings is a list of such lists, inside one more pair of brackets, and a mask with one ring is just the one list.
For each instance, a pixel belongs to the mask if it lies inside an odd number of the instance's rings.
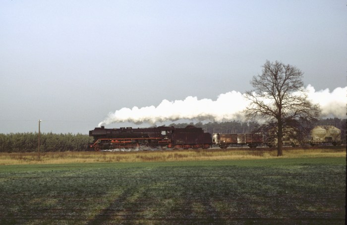
[[333,145],[342,144],[341,130],[334,126],[316,126],[310,131],[310,136],[310,144],[312,146],[325,143]]

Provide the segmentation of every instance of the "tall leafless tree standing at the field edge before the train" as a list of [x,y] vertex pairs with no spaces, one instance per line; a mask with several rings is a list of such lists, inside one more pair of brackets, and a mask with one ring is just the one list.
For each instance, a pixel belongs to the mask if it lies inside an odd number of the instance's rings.
[[295,66],[267,60],[262,74],[253,76],[250,82],[254,90],[245,94],[250,101],[245,109],[246,118],[260,119],[263,127],[276,131],[277,156],[283,155],[284,131],[300,122],[316,120],[321,112],[319,105],[308,99],[302,76]]

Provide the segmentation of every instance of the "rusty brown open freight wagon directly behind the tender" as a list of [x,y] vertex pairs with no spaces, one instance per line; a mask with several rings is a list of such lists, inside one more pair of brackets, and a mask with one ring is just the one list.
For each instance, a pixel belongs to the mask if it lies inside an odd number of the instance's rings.
[[220,148],[228,148],[230,145],[248,145],[255,148],[263,143],[261,133],[254,134],[213,134],[212,143]]

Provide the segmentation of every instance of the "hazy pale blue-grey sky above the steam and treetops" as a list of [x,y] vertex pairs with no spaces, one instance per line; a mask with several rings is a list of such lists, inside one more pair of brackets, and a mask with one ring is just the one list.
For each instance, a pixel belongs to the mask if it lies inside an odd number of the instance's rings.
[[[346,0],[2,0],[0,133],[41,119],[88,134],[123,108],[216,102],[252,90],[266,60],[346,106],[346,40]],[[108,125],[125,126],[139,125]]]

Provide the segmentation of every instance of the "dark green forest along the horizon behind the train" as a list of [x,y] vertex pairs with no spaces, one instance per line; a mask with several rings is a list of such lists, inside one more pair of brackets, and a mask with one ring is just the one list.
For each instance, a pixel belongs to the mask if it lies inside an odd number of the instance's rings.
[[[243,123],[239,121],[223,123],[179,123],[170,124],[175,128],[185,128],[188,125],[202,128],[208,133],[221,134],[244,134],[252,133],[258,126],[257,123]],[[313,124],[306,125],[304,135],[309,135],[309,131],[318,125],[332,125],[341,130],[341,139],[346,140],[346,119],[324,119]],[[40,152],[60,152],[60,151],[84,151],[85,145],[93,138],[82,134],[53,134],[43,133],[40,135]],[[346,142],[346,141],[345,141]],[[38,133],[11,133],[0,134],[0,152],[36,152],[38,151]]]

